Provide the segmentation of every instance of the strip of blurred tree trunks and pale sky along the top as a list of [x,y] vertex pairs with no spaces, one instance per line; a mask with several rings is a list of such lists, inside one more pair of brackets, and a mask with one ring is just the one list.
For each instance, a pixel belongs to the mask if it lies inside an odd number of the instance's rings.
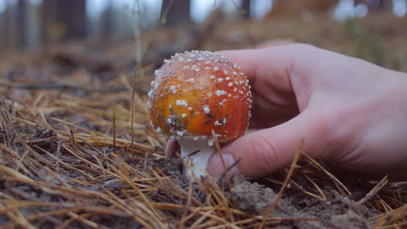
[[[170,6],[168,12],[166,6]],[[166,13],[167,25],[201,23],[217,8],[229,14],[229,19],[236,19],[233,14],[244,14],[259,21],[278,11],[273,10],[276,6],[292,13],[301,8],[299,14],[305,20],[311,19],[312,12],[324,10],[339,21],[366,17],[369,11],[385,8],[395,17],[407,12],[406,0],[0,0],[0,50],[30,50],[72,38],[123,39],[135,32],[135,21],[142,21],[143,29],[163,23],[161,12]]]

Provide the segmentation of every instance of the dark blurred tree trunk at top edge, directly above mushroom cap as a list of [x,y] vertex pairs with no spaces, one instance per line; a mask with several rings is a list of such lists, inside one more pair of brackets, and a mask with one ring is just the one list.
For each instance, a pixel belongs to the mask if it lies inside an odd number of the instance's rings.
[[190,21],[190,0],[163,0],[161,22],[168,26]]

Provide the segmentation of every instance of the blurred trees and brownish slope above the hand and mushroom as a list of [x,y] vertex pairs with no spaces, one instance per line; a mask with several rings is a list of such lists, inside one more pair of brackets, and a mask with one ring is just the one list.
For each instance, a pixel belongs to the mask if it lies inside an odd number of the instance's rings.
[[0,57],[66,41],[128,42],[138,63],[152,47],[148,60],[159,61],[283,38],[406,70],[406,13],[407,0],[0,0]]

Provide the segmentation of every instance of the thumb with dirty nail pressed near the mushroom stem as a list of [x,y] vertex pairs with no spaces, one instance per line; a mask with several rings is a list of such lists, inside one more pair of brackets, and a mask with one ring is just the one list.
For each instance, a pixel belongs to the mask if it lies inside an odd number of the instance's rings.
[[[310,119],[311,118],[311,119]],[[313,120],[313,121],[312,121]],[[233,174],[243,174],[248,178],[264,177],[288,166],[297,153],[301,139],[305,139],[301,148],[317,157],[324,152],[326,127],[320,120],[302,112],[300,115],[279,126],[252,132],[229,143],[222,148],[226,168],[241,159],[231,168]],[[215,152],[210,158],[208,172],[211,175],[225,170],[220,155]]]

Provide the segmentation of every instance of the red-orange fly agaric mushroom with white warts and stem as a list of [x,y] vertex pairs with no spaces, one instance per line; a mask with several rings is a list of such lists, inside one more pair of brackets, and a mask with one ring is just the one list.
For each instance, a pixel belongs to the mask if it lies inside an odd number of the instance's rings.
[[[206,170],[219,143],[244,134],[250,118],[248,79],[235,63],[208,51],[175,54],[155,71],[148,92],[151,125],[177,139],[181,157]],[[201,170],[192,166],[197,177]],[[185,168],[187,175],[190,175]]]

